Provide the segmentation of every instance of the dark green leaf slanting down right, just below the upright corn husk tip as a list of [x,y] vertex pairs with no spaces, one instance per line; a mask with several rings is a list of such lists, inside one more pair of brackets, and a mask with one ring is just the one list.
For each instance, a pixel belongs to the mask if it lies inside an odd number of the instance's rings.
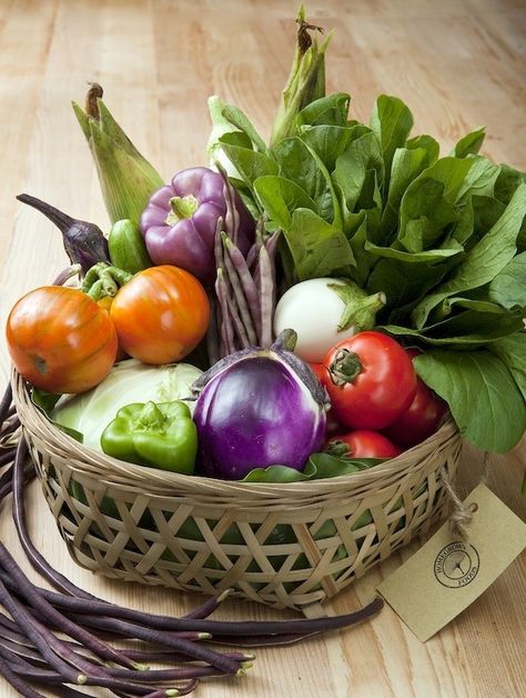
[[300,138],[285,138],[273,149],[280,174],[294,181],[316,203],[327,222],[335,217],[334,190],[327,171]]

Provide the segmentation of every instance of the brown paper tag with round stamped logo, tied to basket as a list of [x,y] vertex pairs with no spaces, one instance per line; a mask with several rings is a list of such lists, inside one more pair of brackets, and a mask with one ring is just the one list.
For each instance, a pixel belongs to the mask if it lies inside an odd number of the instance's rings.
[[477,503],[469,538],[444,526],[380,586],[387,604],[421,642],[458,616],[526,548],[524,524],[485,485],[465,505]]

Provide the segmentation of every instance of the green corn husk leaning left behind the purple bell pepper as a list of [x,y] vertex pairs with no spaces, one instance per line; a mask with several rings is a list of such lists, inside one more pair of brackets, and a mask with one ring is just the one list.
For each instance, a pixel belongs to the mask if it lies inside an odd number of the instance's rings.
[[102,88],[93,83],[85,109],[72,102],[93,156],[105,208],[112,223],[139,222],[151,195],[164,181],[111,116],[102,101]]

